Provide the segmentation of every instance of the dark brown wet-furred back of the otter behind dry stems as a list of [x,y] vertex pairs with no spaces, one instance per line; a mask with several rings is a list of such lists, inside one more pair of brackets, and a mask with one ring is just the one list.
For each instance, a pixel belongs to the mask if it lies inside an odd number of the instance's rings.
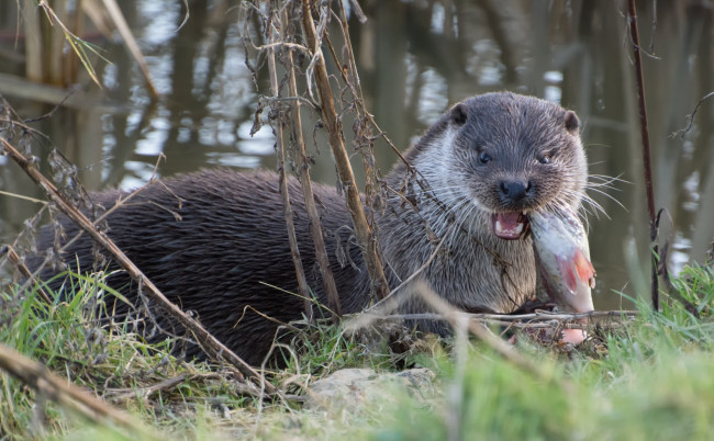
[[[301,186],[293,178],[288,183],[305,275],[317,301],[326,305]],[[358,310],[366,301],[353,292],[361,256],[357,247],[348,247],[349,214],[335,190],[315,185],[314,192],[319,212],[330,213],[322,216],[323,229],[343,312]],[[109,208],[120,195],[127,194],[109,191],[92,200]],[[67,237],[74,237],[77,228],[66,218],[60,222]],[[152,282],[183,310],[194,312],[209,331],[248,363],[263,361],[276,333],[277,324],[261,315],[280,323],[301,318],[303,302],[297,295],[276,173],[203,170],[169,178],[124,202],[108,223],[109,237]],[[45,228],[41,248],[52,242],[53,231]],[[348,253],[342,260],[354,265],[344,262],[343,268],[337,262],[338,248]],[[90,269],[91,240],[82,237],[63,256],[75,270],[77,260],[80,269]],[[43,275],[51,275],[49,270]],[[110,276],[108,283],[138,305],[136,289],[125,273]],[[320,314],[320,308],[315,312]],[[169,323],[159,318],[159,325]],[[187,348],[189,354],[198,353],[197,349]]]

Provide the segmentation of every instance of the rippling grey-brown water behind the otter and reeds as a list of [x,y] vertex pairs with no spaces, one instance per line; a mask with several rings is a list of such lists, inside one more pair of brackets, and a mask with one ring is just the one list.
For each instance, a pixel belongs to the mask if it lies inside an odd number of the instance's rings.
[[[15,2],[0,5],[0,70],[22,74],[23,36],[15,38]],[[244,63],[237,1],[192,1],[188,22],[177,1],[124,0],[121,7],[161,94],[147,98],[144,80],[118,41],[90,32],[87,39],[111,60],[97,60],[103,92],[82,80],[90,99],[34,123],[76,163],[90,190],[145,183],[158,176],[202,167],[275,168],[272,134],[249,136],[259,93]],[[615,292],[647,293],[646,213],[639,122],[632,49],[618,1],[365,1],[369,21],[350,22],[352,41],[368,109],[395,145],[405,148],[448,105],[494,90],[513,90],[574,110],[592,174],[618,178],[614,189],[590,194],[605,215],[590,216],[599,308],[618,307]],[[702,2],[639,2],[656,206],[667,208],[670,267],[702,262],[714,236],[713,12]],[[89,29],[89,27],[88,27]],[[654,30],[654,37],[652,37]],[[654,46],[650,48],[650,42]],[[265,69],[264,69],[265,70]],[[264,72],[261,70],[260,72]],[[22,117],[47,113],[47,104],[0,90]],[[33,152],[45,158],[51,143]],[[159,161],[159,156],[166,157]],[[384,172],[394,155],[377,144]],[[334,183],[326,145],[316,180]],[[46,163],[43,170],[48,171]],[[593,182],[601,180],[593,179]],[[42,199],[42,192],[7,158],[0,190]],[[600,193],[603,191],[607,195]],[[11,241],[41,205],[0,194],[0,236]],[[671,219],[671,222],[669,220]]]

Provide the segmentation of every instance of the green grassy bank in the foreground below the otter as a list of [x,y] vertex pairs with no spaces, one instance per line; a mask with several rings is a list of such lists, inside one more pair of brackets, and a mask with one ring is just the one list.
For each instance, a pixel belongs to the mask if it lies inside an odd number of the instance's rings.
[[[688,268],[674,284],[678,294],[667,298],[661,313],[640,304],[640,317],[625,327],[596,329],[593,341],[576,351],[520,339],[520,350],[545,366],[546,378],[477,340],[460,354],[454,353],[456,344],[434,338],[395,354],[378,339],[328,326],[295,335],[301,341],[297,358],[268,375],[292,394],[349,366],[393,371],[422,365],[437,373],[440,393],[432,399],[387,387],[383,400],[358,411],[311,410],[297,402],[260,404],[237,394],[220,366],[177,360],[169,342],[149,346],[131,324],[99,326],[96,308],[85,306],[92,299],[101,305],[108,292],[97,278],[76,278],[76,295],[66,303],[47,305],[32,290],[1,294],[0,342],[127,409],[166,438],[711,439],[714,270]],[[459,360],[466,369],[459,369]],[[133,394],[179,375],[185,378],[176,385]],[[0,433],[13,439],[131,438],[68,414],[4,373]]]

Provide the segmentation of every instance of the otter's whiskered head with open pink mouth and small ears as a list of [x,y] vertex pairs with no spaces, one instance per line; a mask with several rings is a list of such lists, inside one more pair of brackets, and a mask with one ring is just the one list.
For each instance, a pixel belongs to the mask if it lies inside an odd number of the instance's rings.
[[497,236],[521,237],[531,211],[580,206],[588,168],[572,111],[532,97],[489,93],[456,104],[445,120],[448,185],[491,214]]

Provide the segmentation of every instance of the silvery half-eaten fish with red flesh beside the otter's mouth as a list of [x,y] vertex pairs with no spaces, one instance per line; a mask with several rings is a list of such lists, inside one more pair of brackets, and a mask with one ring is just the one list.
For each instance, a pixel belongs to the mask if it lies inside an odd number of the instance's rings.
[[[592,289],[595,269],[590,261],[590,244],[578,214],[570,207],[528,214],[536,259],[538,290],[545,291],[561,309],[570,313],[594,310]],[[566,329],[564,341],[579,343],[585,335]]]

